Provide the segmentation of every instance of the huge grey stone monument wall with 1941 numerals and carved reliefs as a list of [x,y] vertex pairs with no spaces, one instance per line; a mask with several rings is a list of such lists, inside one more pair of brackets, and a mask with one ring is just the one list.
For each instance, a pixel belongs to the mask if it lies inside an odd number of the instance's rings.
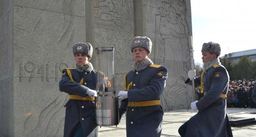
[[0,137],[63,136],[68,94],[58,82],[63,68],[75,66],[76,42],[92,43],[93,65],[96,47],[115,47],[119,91],[134,62],[130,40],[148,36],[149,58],[169,72],[163,109],[187,108],[190,11],[190,0],[1,1]]

